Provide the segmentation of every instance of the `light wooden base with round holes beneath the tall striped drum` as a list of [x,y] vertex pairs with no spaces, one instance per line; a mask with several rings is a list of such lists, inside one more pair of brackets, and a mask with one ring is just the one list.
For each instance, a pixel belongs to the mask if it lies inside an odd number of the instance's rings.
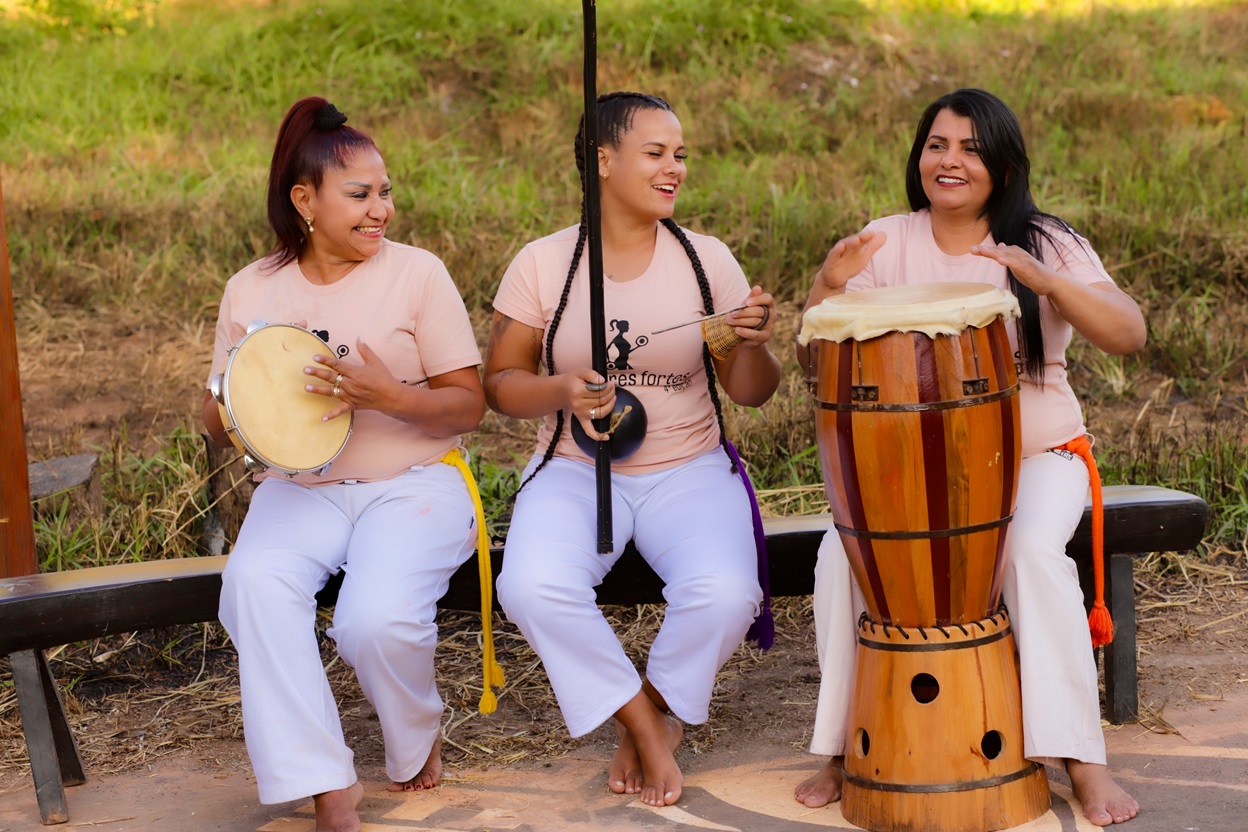
[[966,626],[859,624],[842,810],[867,830],[985,832],[1050,806],[1023,756],[1008,617]]

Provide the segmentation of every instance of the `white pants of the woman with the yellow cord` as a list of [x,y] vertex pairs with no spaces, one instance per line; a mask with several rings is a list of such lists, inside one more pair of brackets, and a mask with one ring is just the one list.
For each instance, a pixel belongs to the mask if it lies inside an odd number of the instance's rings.
[[260,484],[222,575],[221,622],[261,802],[356,782],[314,632],[316,593],[339,569],[328,634],[377,709],[386,773],[419,773],[442,718],[437,602],[475,541],[468,489],[442,463],[377,483]]

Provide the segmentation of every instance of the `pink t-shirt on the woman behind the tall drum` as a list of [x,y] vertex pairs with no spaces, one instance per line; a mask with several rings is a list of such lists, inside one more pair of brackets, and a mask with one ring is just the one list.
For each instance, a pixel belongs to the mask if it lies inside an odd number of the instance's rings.
[[[869,223],[867,228],[885,232],[887,239],[867,267],[849,282],[847,292],[876,286],[942,282],[990,283],[1010,291],[1010,277],[1003,266],[977,254],[953,257],[942,252],[932,236],[927,211],[882,217]],[[1060,244],[1055,248],[1043,241],[1041,254],[1046,266],[1088,286],[1113,282],[1086,239],[1056,226],[1050,226],[1050,232]],[[983,244],[996,244],[992,235],[985,238]],[[1083,412],[1066,378],[1066,348],[1075,331],[1048,298],[1040,298],[1040,319],[1045,333],[1045,384],[1041,387],[1026,378],[1020,379],[1023,457],[1062,445],[1085,432]],[[1007,326],[1006,329],[1017,358],[1017,328]]]

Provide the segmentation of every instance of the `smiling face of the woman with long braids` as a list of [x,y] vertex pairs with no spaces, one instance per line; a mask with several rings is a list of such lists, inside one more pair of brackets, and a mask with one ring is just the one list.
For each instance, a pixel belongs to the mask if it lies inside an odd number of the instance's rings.
[[666,110],[638,110],[618,147],[599,148],[603,212],[645,222],[670,217],[685,181],[680,120]]

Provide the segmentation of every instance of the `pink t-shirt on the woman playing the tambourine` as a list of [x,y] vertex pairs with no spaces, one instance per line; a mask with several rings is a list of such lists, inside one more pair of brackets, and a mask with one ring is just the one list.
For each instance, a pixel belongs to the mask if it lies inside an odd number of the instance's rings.
[[[247,266],[226,284],[212,374],[222,372],[238,333],[257,319],[303,323],[348,363],[362,363],[356,339],[363,338],[404,384],[422,384],[429,377],[480,364],[472,322],[451,274],[441,259],[422,248],[384,241],[377,254],[329,286],[308,282],[297,262],[276,272],[262,271],[261,262]],[[377,410],[358,410],[351,438],[329,470],[300,474],[295,480],[316,485],[388,479],[413,465],[436,463],[458,444],[459,437],[431,437],[416,424]]]

